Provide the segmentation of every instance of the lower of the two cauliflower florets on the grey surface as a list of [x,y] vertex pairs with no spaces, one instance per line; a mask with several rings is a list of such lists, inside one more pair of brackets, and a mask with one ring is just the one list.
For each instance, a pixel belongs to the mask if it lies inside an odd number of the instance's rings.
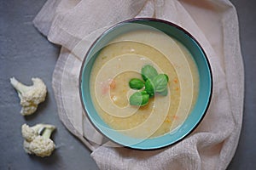
[[41,157],[50,156],[55,150],[55,143],[49,139],[54,130],[55,126],[49,124],[37,124],[33,127],[23,124],[21,133],[24,138],[23,148],[26,153]]

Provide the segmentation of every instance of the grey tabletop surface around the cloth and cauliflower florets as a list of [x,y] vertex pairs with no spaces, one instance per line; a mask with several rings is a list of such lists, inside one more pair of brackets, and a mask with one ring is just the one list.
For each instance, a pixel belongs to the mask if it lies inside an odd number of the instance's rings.
[[[51,88],[51,77],[60,48],[49,43],[32,25],[45,0],[0,0],[0,169],[97,169],[78,139],[62,125]],[[241,50],[246,71],[246,94],[241,139],[228,169],[256,169],[256,7],[255,1],[232,0],[240,20]],[[30,82],[41,77],[49,94],[33,116],[20,115],[19,99],[9,77]],[[54,124],[57,150],[39,158],[25,154],[20,126],[38,122]]]

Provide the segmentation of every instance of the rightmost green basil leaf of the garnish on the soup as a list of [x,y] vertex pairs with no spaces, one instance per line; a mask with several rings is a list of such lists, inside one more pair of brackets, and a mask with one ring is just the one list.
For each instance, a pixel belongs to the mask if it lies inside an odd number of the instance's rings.
[[162,92],[166,89],[167,82],[169,78],[166,78],[167,75],[159,74],[157,77],[154,77],[153,84],[154,84],[154,92]]

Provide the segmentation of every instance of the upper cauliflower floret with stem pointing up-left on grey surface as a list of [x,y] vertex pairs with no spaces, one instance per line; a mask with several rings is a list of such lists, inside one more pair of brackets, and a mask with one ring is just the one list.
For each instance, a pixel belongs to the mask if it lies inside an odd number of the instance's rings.
[[21,115],[32,115],[38,109],[38,104],[45,100],[47,89],[44,82],[40,78],[32,78],[32,86],[26,86],[18,82],[15,77],[10,78],[10,83],[17,90],[20,105],[22,109]]

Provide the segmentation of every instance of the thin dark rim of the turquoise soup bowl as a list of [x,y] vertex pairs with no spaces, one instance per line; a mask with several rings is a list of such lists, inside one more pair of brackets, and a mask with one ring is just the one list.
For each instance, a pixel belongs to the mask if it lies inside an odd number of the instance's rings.
[[[189,130],[189,132],[184,133],[183,137],[177,139],[176,141],[174,141],[174,142],[172,142],[170,144],[165,144],[165,145],[161,145],[159,147],[154,147],[154,148],[140,148],[140,147],[132,147],[132,146],[125,145],[125,144],[119,144],[118,142],[116,142],[113,139],[109,138],[108,135],[102,133],[102,130],[100,130],[95,125],[95,123],[92,120],[90,120],[90,115],[89,115],[89,113],[87,112],[87,110],[85,108],[84,100],[83,100],[83,94],[82,94],[82,76],[83,76],[83,71],[84,71],[84,64],[85,64],[85,62],[87,60],[87,56],[90,54],[91,49],[94,48],[96,42],[98,42],[100,38],[102,38],[105,34],[107,34],[108,31],[111,31],[111,30],[115,29],[116,27],[119,27],[119,26],[121,26],[121,25],[123,25],[125,23],[131,23],[133,21],[140,21],[140,20],[164,23],[164,24],[166,24],[168,26],[173,26],[173,27],[177,28],[177,30],[183,31],[183,33],[186,34],[187,36],[189,36],[189,38],[191,38],[193,41],[195,41],[195,43],[201,49],[201,52],[202,52],[202,54],[204,55],[204,58],[207,61],[207,67],[209,69],[209,75],[210,75],[210,83],[209,84],[210,84],[211,87],[210,87],[210,92],[209,92],[209,98],[208,98],[208,102],[207,102],[206,108],[205,108],[204,112],[201,114],[201,119],[197,123],[195,123],[195,126],[192,127]],[[204,119],[204,117],[207,114],[207,111],[208,111],[209,106],[210,106],[211,101],[212,101],[212,92],[213,92],[213,79],[212,78],[213,78],[212,77],[212,67],[210,65],[209,59],[207,57],[207,54],[206,54],[205,50],[202,48],[201,43],[198,42],[195,39],[195,37],[191,33],[189,33],[189,31],[186,31],[183,27],[177,26],[173,22],[167,21],[167,20],[156,19],[156,18],[148,18],[148,17],[146,17],[146,18],[133,18],[133,19],[129,19],[129,20],[123,20],[123,21],[118,22],[117,24],[114,24],[113,26],[109,26],[108,29],[103,31],[102,34],[100,34],[100,36],[98,36],[96,38],[96,40],[90,44],[90,48],[88,48],[86,54],[84,55],[84,59],[82,61],[82,65],[81,65],[80,71],[79,71],[79,99],[80,99],[81,105],[83,107],[83,112],[84,112],[85,116],[87,116],[87,118],[90,121],[90,123],[93,125],[93,127],[96,128],[96,131],[98,133],[101,133],[105,138],[109,139],[111,142],[113,142],[115,144],[119,144],[119,145],[121,145],[121,147],[129,148],[129,149],[132,149],[132,150],[160,150],[160,149],[166,148],[168,146],[171,146],[173,144],[177,144],[178,142],[181,142],[183,139],[186,139],[186,137],[188,137],[189,134],[193,133],[195,131],[196,127],[198,127],[201,124],[202,120]],[[158,137],[155,137],[155,138],[158,138]]]

